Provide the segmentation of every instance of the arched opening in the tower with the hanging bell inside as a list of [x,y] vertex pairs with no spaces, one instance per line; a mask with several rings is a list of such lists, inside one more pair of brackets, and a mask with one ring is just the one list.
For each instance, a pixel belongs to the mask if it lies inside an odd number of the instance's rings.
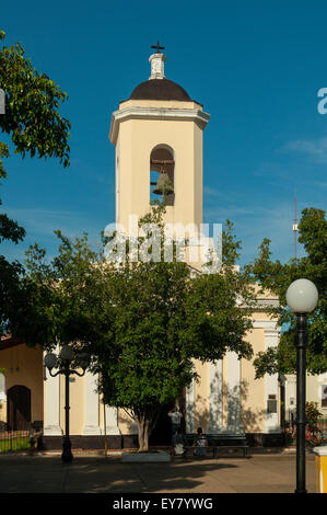
[[166,206],[174,206],[175,158],[171,147],[157,145],[150,154],[150,203],[163,197]]

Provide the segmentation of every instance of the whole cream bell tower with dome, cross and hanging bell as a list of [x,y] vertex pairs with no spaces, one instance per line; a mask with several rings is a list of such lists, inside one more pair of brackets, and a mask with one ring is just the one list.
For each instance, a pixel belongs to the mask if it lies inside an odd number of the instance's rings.
[[202,224],[202,133],[209,114],[176,82],[165,78],[159,43],[151,75],[119,103],[109,139],[116,146],[116,222],[142,217],[166,195],[172,224]]

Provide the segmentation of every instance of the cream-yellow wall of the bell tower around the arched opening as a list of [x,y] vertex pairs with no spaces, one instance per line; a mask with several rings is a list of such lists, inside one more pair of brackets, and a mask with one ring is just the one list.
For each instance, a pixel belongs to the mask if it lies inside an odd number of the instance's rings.
[[167,206],[165,221],[202,222],[202,130],[194,122],[128,119],[120,123],[118,140],[118,221],[126,229],[129,215],[150,208],[150,154],[157,145],[171,147],[175,158],[175,205]]

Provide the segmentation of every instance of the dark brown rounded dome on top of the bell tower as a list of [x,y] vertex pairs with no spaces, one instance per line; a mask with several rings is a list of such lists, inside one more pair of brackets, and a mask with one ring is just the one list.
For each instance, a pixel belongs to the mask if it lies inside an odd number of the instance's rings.
[[132,91],[130,100],[179,100],[191,102],[185,89],[168,79],[151,79],[141,82]]

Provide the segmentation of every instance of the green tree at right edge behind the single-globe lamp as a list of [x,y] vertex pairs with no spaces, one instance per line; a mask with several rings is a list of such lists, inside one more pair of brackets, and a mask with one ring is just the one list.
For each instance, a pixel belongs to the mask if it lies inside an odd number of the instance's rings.
[[[327,222],[325,211],[306,208],[299,225],[299,241],[305,250],[304,258],[282,264],[271,261],[270,240],[260,245],[259,256],[247,266],[247,273],[260,283],[262,288],[278,295],[280,324],[285,328],[277,348],[259,353],[254,360],[256,377],[265,374],[293,374],[296,369],[294,335],[296,318],[287,306],[285,294],[290,284],[301,277],[311,279],[319,293],[317,308],[308,317],[310,342],[307,370],[322,374],[327,370]],[[283,325],[284,324],[284,325]]]

